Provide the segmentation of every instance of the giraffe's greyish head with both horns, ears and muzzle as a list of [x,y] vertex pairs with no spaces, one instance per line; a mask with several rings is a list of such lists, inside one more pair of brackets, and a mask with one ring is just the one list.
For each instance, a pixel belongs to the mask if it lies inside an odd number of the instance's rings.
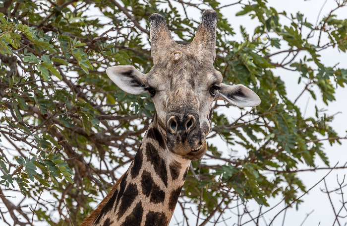
[[193,41],[173,41],[160,14],[149,17],[153,68],[142,74],[133,66],[106,70],[118,87],[128,93],[148,92],[156,107],[156,120],[164,132],[168,149],[191,160],[207,150],[211,130],[212,103],[224,99],[238,107],[260,104],[260,98],[243,85],[222,83],[214,69],[217,13],[206,10]]

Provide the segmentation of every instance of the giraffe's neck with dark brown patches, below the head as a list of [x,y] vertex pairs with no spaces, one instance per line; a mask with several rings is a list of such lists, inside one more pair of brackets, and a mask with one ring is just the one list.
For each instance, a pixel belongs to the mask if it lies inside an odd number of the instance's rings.
[[190,160],[168,150],[153,118],[134,160],[93,226],[167,226]]

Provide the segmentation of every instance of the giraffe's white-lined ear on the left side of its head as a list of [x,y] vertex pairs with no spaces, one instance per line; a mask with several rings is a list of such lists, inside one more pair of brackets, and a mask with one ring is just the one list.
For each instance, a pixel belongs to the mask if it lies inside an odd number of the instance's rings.
[[141,94],[145,92],[143,75],[134,66],[114,66],[106,69],[106,74],[124,92]]

